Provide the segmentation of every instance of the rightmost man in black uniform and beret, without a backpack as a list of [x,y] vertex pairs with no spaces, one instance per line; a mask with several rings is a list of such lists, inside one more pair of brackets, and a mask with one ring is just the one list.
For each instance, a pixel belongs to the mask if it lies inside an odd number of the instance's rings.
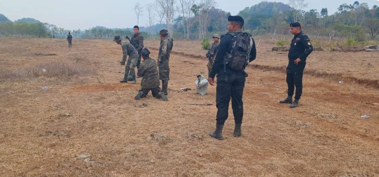
[[[288,97],[279,103],[289,103],[294,108],[299,105],[299,99],[303,91],[303,71],[307,64],[307,56],[312,52],[313,46],[308,36],[303,34],[299,22],[290,24],[290,32],[294,35],[288,52],[287,85]],[[296,87],[295,101],[292,101]]]

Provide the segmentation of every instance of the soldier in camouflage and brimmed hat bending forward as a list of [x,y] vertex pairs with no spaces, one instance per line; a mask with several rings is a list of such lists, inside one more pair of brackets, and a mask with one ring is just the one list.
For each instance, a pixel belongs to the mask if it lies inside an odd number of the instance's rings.
[[124,79],[121,80],[120,82],[121,83],[128,82],[127,77],[129,74],[130,76],[132,76],[131,83],[135,84],[136,81],[135,81],[134,67],[137,64],[137,60],[138,60],[137,50],[129,42],[122,41],[120,36],[115,36],[113,41],[115,41],[117,44],[121,45],[121,47],[122,47],[123,56],[122,56],[122,61],[120,63],[121,65],[125,65],[126,57],[129,55],[128,61],[127,61],[126,66],[125,66]]

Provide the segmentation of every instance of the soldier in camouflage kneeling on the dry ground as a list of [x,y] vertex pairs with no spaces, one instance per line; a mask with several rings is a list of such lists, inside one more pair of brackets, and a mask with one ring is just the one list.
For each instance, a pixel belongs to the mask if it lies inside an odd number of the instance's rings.
[[142,77],[141,89],[134,99],[146,97],[151,90],[152,94],[156,98],[162,98],[163,101],[167,101],[167,96],[161,92],[159,88],[159,77],[157,70],[157,62],[149,56],[150,51],[147,48],[141,50],[141,56],[143,63],[138,69],[137,75]]

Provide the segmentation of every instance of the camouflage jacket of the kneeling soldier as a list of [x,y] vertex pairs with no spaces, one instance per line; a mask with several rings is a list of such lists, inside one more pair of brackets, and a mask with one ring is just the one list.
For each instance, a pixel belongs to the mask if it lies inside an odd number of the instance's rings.
[[157,61],[149,57],[139,66],[137,76],[142,77],[141,88],[159,87]]

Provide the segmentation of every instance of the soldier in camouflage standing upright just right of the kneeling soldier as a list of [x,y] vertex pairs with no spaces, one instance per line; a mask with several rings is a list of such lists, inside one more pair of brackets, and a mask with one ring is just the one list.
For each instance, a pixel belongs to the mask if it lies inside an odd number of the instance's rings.
[[167,37],[167,30],[164,29],[159,32],[159,36],[161,38],[161,45],[158,53],[159,79],[162,80],[162,93],[167,95],[168,80],[170,80],[168,61],[172,49],[172,40]]

